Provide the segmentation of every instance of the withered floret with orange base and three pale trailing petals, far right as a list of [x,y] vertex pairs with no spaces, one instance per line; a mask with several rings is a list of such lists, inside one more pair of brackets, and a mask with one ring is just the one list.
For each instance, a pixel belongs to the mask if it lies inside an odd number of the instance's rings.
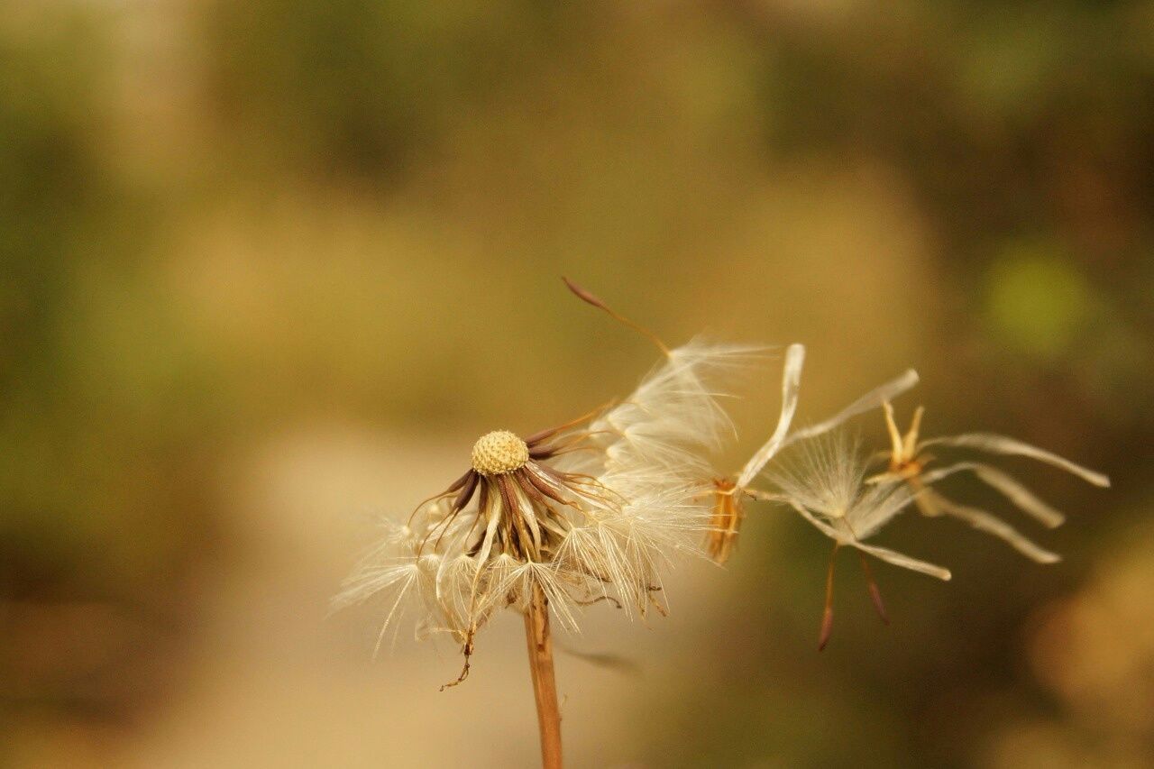
[[942,448],[968,448],[1003,456],[1025,456],[1065,470],[1095,486],[1102,488],[1110,486],[1110,479],[1100,472],[1088,470],[1057,454],[1012,438],[1006,438],[1005,435],[967,433],[920,440],[919,433],[924,413],[922,406],[917,406],[914,411],[909,430],[902,434],[894,421],[893,406],[889,402],[884,403],[883,406],[885,409],[885,424],[891,442],[889,468],[885,472],[870,478],[869,483],[905,483],[915,492],[914,501],[923,515],[931,517],[949,515],[965,521],[979,531],[984,531],[1003,539],[1022,555],[1039,563],[1054,563],[1061,560],[1061,557],[1034,544],[1009,523],[995,517],[990,513],[954,502],[931,486],[954,473],[972,472],[979,480],[999,492],[1011,503],[1047,528],[1052,529],[1062,525],[1065,516],[1039,499],[1013,476],[984,462],[967,460],[928,470],[928,465],[934,462],[935,457],[928,454],[926,449],[937,446]]

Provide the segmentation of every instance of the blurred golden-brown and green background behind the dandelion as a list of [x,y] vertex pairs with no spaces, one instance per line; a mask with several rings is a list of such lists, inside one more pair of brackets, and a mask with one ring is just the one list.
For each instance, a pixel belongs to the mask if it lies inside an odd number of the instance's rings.
[[885,628],[844,561],[820,655],[827,543],[751,509],[560,641],[634,665],[561,654],[570,766],[1154,762],[1154,3],[16,0],[0,83],[0,764],[533,766],[516,617],[439,693],[325,604],[477,435],[654,363],[563,274],[804,342],[802,420],[915,366],[902,419],[1114,479],[1007,463],[1056,566],[904,517],[953,582],[878,565]]

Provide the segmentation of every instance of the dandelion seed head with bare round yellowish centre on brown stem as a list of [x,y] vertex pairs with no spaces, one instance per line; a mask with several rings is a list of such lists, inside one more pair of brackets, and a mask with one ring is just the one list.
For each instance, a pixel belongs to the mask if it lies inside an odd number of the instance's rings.
[[388,525],[334,599],[383,602],[377,645],[412,607],[419,628],[451,635],[464,665],[442,689],[467,678],[494,613],[524,614],[546,767],[561,761],[550,619],[578,630],[582,607],[599,602],[665,613],[661,567],[699,552],[709,525],[702,457],[730,427],[714,382],[749,349],[658,344],[665,360],[621,403],[526,436],[480,436],[469,469],[406,524]]

